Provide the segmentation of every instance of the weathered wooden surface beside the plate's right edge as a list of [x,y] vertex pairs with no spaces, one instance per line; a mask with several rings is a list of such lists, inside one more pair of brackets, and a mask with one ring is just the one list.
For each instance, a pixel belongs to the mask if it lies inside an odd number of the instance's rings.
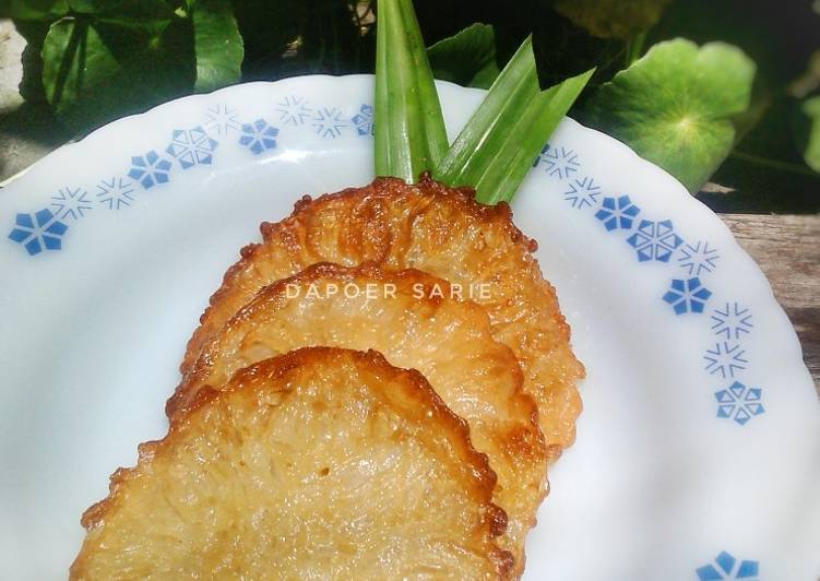
[[820,394],[820,215],[721,217],[769,277]]

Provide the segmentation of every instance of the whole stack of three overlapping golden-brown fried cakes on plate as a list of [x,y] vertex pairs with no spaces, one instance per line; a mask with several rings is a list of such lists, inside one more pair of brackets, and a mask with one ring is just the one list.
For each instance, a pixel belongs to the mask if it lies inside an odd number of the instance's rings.
[[535,242],[426,176],[261,232],[72,578],[520,577],[583,376]]

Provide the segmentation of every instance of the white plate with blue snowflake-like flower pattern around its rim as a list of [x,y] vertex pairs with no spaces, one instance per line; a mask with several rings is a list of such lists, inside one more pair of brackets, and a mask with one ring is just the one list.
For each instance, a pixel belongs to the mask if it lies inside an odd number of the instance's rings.
[[[439,88],[454,137],[483,92]],[[371,179],[371,103],[369,76],[186,97],[0,190],[1,578],[66,576],[82,511],[164,434],[186,341],[239,247],[302,193]],[[570,119],[513,209],[589,372],[525,578],[815,581],[820,405],[723,223]]]

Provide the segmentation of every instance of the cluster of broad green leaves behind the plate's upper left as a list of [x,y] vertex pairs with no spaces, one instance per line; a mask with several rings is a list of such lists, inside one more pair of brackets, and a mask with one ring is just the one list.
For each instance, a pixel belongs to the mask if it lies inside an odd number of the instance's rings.
[[48,24],[40,86],[76,131],[241,76],[242,38],[229,0],[16,0],[11,15]]

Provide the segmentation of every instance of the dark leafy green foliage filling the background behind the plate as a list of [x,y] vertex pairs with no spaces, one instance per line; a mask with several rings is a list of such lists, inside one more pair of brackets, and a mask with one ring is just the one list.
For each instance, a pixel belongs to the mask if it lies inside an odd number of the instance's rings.
[[[597,68],[570,115],[627,142],[694,193],[706,180],[736,190],[699,193],[716,210],[820,211],[817,2],[416,0],[415,7],[438,78],[487,87],[532,33],[543,86]],[[378,5],[0,0],[0,17],[13,19],[28,43],[26,103],[16,115],[54,116],[69,139],[240,81],[372,72]]]

